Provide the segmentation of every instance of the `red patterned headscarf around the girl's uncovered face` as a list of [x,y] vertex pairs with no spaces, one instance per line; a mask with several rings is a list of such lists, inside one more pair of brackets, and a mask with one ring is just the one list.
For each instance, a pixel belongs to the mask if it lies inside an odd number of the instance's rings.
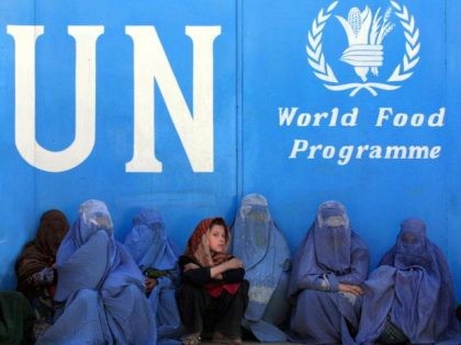
[[210,250],[209,237],[211,233],[211,226],[212,222],[217,219],[222,218],[206,218],[199,222],[195,230],[189,238],[188,245],[185,248],[184,255],[193,258],[203,267],[216,266],[232,256],[227,253],[227,249],[231,243],[231,232],[224,220],[222,222],[216,222],[216,225],[222,225],[224,227],[226,237],[225,249],[222,253],[214,253]]

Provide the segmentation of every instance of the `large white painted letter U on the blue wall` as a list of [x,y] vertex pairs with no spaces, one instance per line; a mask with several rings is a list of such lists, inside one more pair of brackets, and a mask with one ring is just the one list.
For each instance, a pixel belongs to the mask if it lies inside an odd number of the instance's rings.
[[36,141],[35,42],[42,25],[8,25],[15,43],[14,138],[21,157],[32,166],[48,171],[70,170],[90,156],[95,136],[95,42],[103,26],[68,26],[76,41],[75,140],[61,151],[49,151]]

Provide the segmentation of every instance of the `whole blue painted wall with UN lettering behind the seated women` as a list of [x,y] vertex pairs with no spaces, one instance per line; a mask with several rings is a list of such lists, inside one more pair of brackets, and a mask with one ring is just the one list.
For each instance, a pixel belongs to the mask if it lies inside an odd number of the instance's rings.
[[[367,5],[391,25],[378,43],[346,34]],[[437,0],[2,1],[1,288],[49,208],[72,221],[100,198],[122,240],[155,207],[182,246],[261,193],[293,251],[341,200],[372,266],[421,217],[461,300],[460,15]]]

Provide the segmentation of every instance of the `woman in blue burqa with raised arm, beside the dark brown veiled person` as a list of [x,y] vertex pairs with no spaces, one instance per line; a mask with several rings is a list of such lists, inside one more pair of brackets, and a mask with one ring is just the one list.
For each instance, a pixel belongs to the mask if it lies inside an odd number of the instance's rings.
[[64,308],[37,344],[156,344],[144,277],[114,240],[104,203],[90,199],[80,205],[56,266],[55,300]]

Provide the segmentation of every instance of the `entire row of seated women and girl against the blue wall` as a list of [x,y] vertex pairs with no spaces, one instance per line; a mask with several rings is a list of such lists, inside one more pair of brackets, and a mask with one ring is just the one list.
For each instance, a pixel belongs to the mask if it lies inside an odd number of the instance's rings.
[[238,345],[243,332],[261,342],[461,344],[451,275],[425,223],[403,221],[368,276],[368,248],[338,202],[319,206],[291,260],[258,194],[243,199],[231,230],[202,220],[182,255],[155,210],[136,215],[119,243],[105,204],[87,200],[70,229],[60,211],[45,212],[15,269],[25,298],[0,295],[0,344]]

